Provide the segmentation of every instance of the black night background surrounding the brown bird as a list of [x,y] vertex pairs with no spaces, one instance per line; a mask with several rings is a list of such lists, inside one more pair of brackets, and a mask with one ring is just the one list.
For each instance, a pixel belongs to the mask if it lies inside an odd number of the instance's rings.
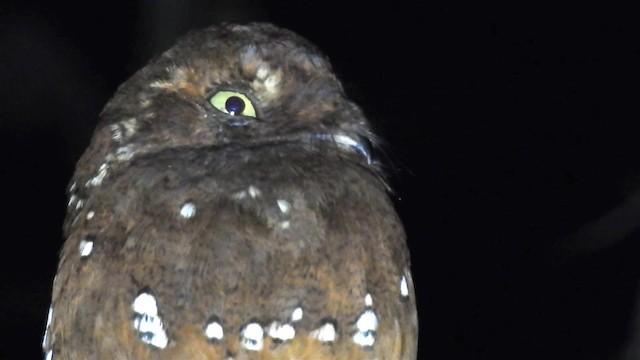
[[387,140],[420,359],[622,359],[640,278],[636,12],[383,4],[0,3],[0,358],[41,356],[65,188],[109,96],[189,29],[261,20],[323,49]]

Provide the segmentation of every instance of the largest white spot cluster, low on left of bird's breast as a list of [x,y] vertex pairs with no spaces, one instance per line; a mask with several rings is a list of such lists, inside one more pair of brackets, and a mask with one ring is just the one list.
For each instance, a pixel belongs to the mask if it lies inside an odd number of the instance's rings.
[[153,295],[143,292],[133,301],[133,311],[137,314],[133,327],[138,331],[142,342],[160,349],[167,347],[169,338],[162,320],[158,317],[158,306]]

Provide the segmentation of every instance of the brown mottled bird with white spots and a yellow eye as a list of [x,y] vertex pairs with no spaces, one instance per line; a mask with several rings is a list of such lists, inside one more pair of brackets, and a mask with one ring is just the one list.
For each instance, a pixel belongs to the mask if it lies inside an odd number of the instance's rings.
[[293,31],[180,38],[118,88],[78,160],[45,359],[416,359],[380,143]]

